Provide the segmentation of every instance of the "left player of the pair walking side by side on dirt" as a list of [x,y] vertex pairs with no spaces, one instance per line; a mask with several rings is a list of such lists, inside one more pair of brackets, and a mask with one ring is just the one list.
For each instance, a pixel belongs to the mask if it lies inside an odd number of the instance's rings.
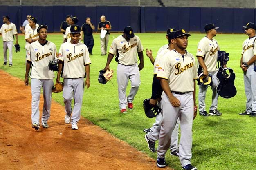
[[25,74],[25,86],[29,85],[29,70],[31,69],[31,93],[32,93],[32,104],[31,104],[31,119],[32,128],[39,130],[39,102],[41,88],[43,87],[44,105],[42,111],[41,123],[43,128],[48,128],[47,121],[50,117],[51,100],[52,100],[52,87],[53,79],[55,77],[54,72],[49,70],[48,64],[50,60],[54,60],[56,55],[56,46],[54,43],[47,41],[47,25],[41,25],[38,27],[37,32],[39,33],[39,40],[33,42],[29,46],[27,53],[27,65]]

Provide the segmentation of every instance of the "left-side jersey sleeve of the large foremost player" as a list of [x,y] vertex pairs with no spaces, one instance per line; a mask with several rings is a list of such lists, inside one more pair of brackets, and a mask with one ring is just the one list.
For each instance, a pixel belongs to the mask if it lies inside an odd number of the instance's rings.
[[168,80],[170,75],[170,66],[171,66],[171,61],[168,60],[168,55],[162,56],[159,62],[157,77]]

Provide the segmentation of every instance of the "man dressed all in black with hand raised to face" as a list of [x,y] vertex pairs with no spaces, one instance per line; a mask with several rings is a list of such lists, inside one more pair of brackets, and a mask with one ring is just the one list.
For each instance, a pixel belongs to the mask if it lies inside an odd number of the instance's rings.
[[94,29],[95,26],[91,23],[91,18],[87,17],[85,23],[81,26],[81,40],[83,40],[83,43],[87,46],[90,55],[92,55],[92,48],[94,46],[92,36],[92,30]]

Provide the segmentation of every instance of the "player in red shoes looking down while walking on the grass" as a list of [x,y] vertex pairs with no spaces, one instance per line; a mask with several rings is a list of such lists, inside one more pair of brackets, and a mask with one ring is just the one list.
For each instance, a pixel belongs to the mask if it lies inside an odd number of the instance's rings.
[[[137,53],[140,63],[137,64]],[[126,106],[133,109],[133,99],[139,90],[140,74],[139,71],[144,67],[143,47],[138,36],[134,35],[132,27],[126,26],[123,35],[119,35],[112,42],[109,49],[108,60],[104,70],[110,70],[109,64],[114,55],[117,64],[117,84],[119,108],[121,113],[126,113]],[[126,98],[126,88],[128,81],[131,81],[130,93]]]

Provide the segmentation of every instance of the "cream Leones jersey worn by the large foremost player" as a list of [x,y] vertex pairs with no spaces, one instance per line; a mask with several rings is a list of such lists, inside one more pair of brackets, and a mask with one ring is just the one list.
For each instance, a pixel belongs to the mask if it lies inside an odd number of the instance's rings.
[[197,79],[195,57],[186,51],[181,55],[175,50],[162,56],[157,77],[167,79],[171,91],[194,91],[194,79]]

